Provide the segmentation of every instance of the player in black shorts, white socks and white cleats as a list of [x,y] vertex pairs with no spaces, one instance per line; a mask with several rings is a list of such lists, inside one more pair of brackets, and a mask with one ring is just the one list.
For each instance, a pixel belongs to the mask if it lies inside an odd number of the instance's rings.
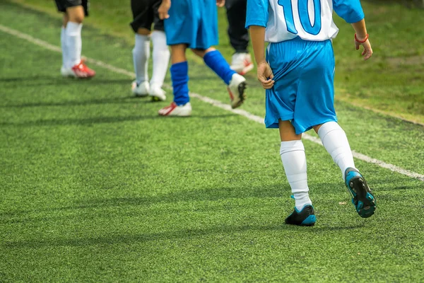
[[[163,21],[158,16],[160,0],[131,0],[134,21],[131,27],[136,33],[133,49],[136,81],[132,91],[136,96],[150,95],[153,100],[165,100],[163,81],[170,61],[170,50],[166,45]],[[153,33],[151,33],[152,24]],[[148,81],[148,59],[150,57],[150,39],[153,42],[153,74]]]

